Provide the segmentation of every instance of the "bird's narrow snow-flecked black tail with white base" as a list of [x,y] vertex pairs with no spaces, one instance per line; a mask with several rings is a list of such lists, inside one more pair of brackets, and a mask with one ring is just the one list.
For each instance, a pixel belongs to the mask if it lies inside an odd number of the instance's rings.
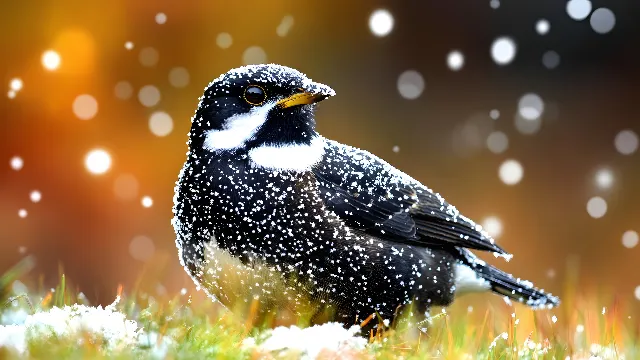
[[468,250],[462,250],[461,253],[464,255],[464,259],[456,268],[456,279],[463,277],[465,284],[469,283],[469,270],[472,270],[475,275],[476,289],[480,286],[485,290],[491,290],[535,309],[550,309],[560,305],[558,297],[535,288],[530,281],[507,274],[478,259]]

